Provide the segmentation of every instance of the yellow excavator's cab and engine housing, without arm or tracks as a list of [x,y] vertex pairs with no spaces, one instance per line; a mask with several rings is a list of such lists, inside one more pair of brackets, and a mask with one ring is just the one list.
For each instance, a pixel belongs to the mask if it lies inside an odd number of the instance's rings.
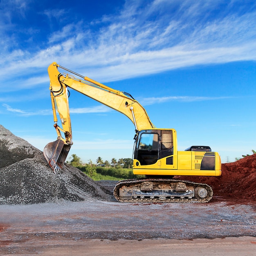
[[174,129],[141,130],[135,141],[133,173],[153,176],[221,175],[217,152],[211,152],[204,146],[197,146],[194,150],[177,151]]

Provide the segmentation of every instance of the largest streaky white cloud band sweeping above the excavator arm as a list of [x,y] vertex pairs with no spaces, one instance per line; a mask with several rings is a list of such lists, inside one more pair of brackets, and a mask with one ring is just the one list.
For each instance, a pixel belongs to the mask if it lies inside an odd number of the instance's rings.
[[[249,4],[127,0],[119,14],[91,22],[91,27],[83,20],[63,21],[61,29],[47,34],[40,49],[31,51],[3,32],[1,45],[13,39],[16,47],[1,52],[0,75],[24,78],[46,72],[57,61],[108,82],[193,65],[256,60],[256,8]],[[60,9],[56,15],[63,17],[64,12]],[[54,18],[53,10],[44,13]],[[94,30],[96,24],[101,29]]]

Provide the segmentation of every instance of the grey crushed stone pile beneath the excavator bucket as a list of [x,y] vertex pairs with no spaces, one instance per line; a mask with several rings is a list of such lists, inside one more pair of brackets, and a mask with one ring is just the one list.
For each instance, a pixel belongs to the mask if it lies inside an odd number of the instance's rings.
[[0,204],[60,200],[110,200],[111,195],[79,169],[54,174],[43,152],[0,125]]

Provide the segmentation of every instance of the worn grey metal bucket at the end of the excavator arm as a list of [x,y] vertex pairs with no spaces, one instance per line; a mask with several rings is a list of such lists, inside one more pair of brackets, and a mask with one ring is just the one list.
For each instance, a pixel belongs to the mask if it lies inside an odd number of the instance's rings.
[[71,146],[64,144],[61,139],[50,142],[45,146],[43,154],[54,173],[57,173],[59,169],[63,168],[70,148]]

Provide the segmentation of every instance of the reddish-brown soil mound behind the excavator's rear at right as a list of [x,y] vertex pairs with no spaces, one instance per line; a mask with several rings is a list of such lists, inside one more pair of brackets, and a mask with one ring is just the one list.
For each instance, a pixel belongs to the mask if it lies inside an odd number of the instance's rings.
[[256,200],[256,154],[233,163],[222,164],[220,177],[180,176],[179,178],[206,183],[212,187],[215,196]]

